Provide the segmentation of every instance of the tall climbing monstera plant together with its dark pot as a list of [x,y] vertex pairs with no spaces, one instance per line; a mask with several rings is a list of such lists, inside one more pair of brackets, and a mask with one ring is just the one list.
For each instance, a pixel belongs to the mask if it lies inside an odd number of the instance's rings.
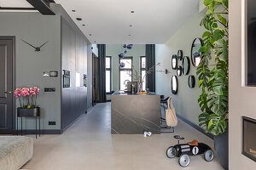
[[207,31],[202,35],[202,62],[196,71],[201,88],[199,125],[215,136],[218,161],[228,169],[229,1],[204,0],[204,4],[207,13],[201,20],[201,26]]

